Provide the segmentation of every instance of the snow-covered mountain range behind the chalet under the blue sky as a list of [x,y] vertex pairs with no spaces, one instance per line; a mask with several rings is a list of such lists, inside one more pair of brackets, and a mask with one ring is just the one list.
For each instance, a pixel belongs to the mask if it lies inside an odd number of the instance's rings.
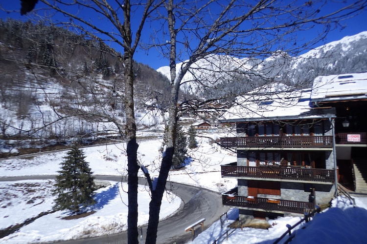
[[[179,72],[183,62],[176,65]],[[157,69],[170,79],[168,66]],[[269,83],[282,82],[310,87],[317,76],[367,71],[367,32],[347,36],[297,57],[276,51],[264,60],[210,55],[192,65],[184,76],[183,89],[205,98],[220,97],[222,91],[241,93]]]

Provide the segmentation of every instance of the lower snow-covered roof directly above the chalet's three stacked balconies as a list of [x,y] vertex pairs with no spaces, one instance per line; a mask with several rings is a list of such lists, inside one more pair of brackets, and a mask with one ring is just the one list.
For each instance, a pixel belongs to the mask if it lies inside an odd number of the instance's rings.
[[334,111],[310,107],[310,90],[289,90],[238,97],[221,122],[329,118]]

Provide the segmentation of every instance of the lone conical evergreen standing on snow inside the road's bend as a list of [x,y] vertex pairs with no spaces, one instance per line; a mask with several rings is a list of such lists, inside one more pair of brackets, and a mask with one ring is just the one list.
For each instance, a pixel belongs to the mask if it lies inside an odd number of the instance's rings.
[[75,143],[61,163],[60,175],[56,176],[53,195],[55,199],[54,209],[69,209],[79,211],[79,205],[92,205],[93,191],[95,190],[92,171],[85,160],[83,151]]

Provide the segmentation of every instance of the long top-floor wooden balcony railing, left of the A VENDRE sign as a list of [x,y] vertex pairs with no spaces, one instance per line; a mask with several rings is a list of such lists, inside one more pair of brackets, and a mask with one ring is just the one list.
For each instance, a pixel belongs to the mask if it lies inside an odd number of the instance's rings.
[[226,147],[332,148],[332,136],[266,136],[221,138]]

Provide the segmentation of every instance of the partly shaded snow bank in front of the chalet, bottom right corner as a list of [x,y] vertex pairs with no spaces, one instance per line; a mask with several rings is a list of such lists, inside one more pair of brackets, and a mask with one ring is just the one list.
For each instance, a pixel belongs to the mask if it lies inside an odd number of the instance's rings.
[[[296,244],[324,244],[324,243],[365,243],[367,233],[367,197],[355,197],[356,205],[353,206],[345,197],[338,197],[332,201],[332,207],[316,214],[308,223],[302,222],[292,230],[292,243]],[[278,237],[288,230],[286,224],[293,226],[301,217],[282,217],[269,220],[271,228],[232,229],[227,226],[238,217],[238,210],[231,209],[228,221],[222,228],[220,221],[212,224],[205,232],[198,235],[193,244],[211,244],[218,240],[222,244],[238,244],[246,240],[247,244],[273,244]],[[229,231],[229,239],[226,233]],[[233,232],[231,232],[233,231]],[[220,238],[221,237],[221,238]],[[279,242],[285,243],[288,234]]]

